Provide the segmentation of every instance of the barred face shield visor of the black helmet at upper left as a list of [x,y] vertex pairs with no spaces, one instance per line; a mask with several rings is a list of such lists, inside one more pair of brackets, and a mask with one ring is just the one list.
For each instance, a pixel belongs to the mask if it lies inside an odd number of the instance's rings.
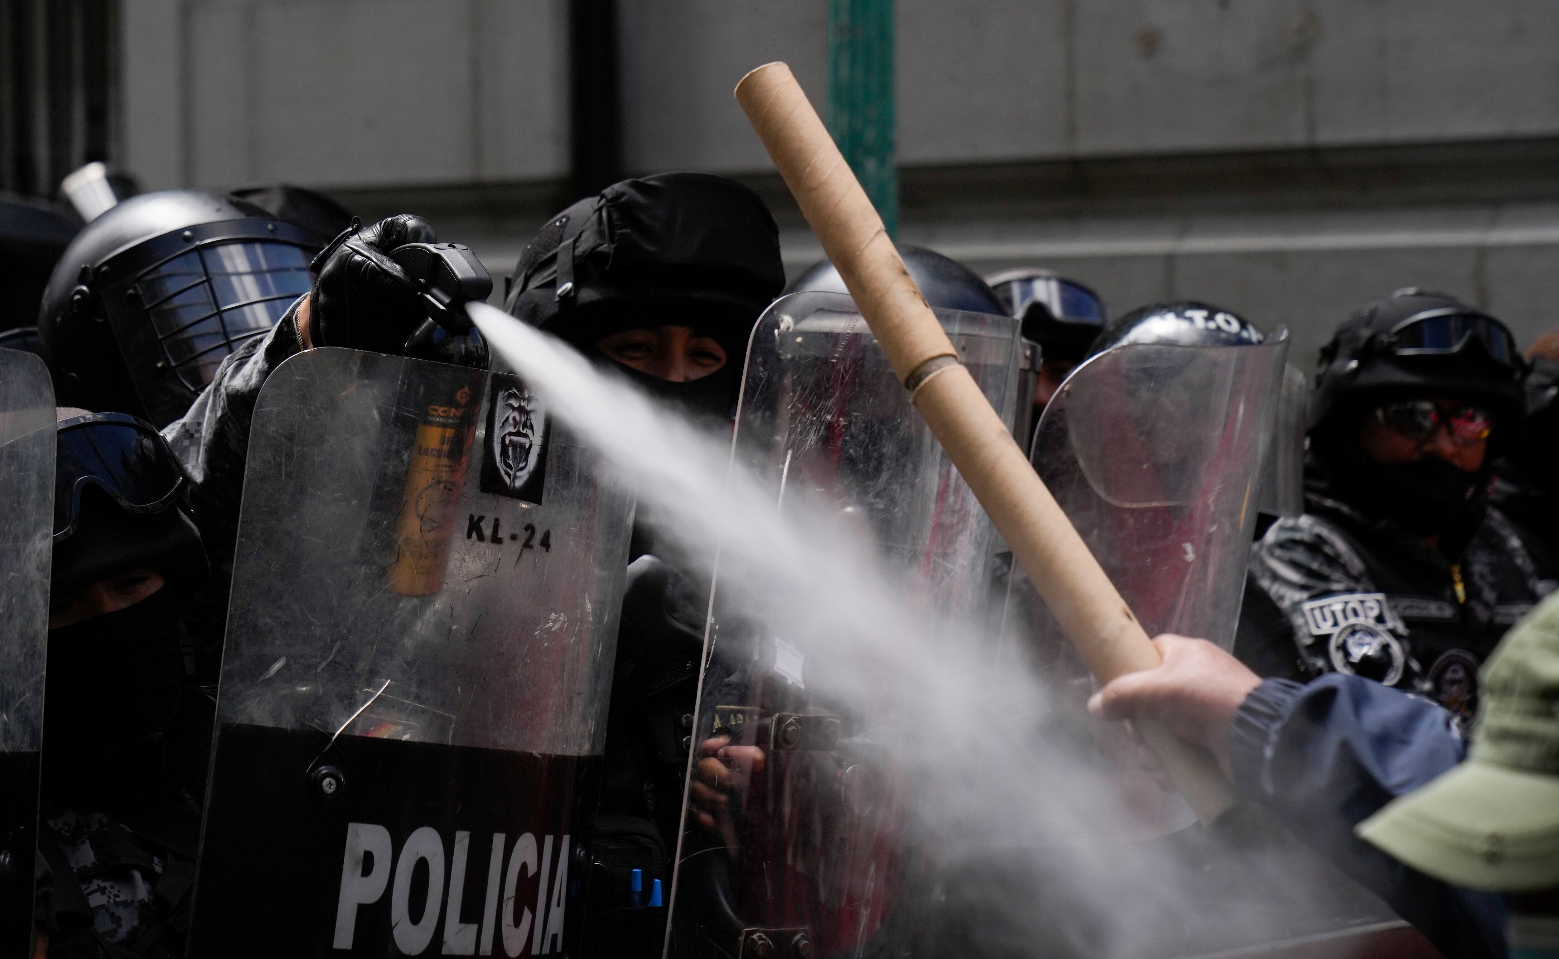
[[161,264],[136,287],[162,362],[200,391],[228,354],[309,292],[309,253],[273,240],[212,243]]

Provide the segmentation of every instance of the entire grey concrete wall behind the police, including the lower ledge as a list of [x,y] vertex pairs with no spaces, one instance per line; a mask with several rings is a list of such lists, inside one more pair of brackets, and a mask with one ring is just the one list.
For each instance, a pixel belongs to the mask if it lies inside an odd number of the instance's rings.
[[[287,179],[365,215],[416,209],[507,271],[567,201],[564,3],[126,0],[128,167],[153,187]],[[756,64],[789,61],[823,103],[826,0],[619,11],[630,170],[767,170],[731,100]],[[1349,307],[1408,284],[1523,341],[1556,321],[1559,5],[898,0],[898,78],[903,239],[979,268],[1069,271],[1116,312],[1210,299],[1288,324],[1300,362]],[[1512,186],[1498,148],[1517,140],[1554,148]],[[1359,148],[1386,153],[1349,161],[1364,172],[1344,189],[1297,186]],[[1392,150],[1433,167],[1448,148],[1472,153],[1402,186]],[[1197,154],[1278,159],[1255,186],[1169,176]],[[1093,179],[1108,157],[1140,168]],[[1001,184],[943,200],[992,164],[1062,201]],[[935,176],[914,195],[920,170]],[[773,186],[804,265],[815,245]]]

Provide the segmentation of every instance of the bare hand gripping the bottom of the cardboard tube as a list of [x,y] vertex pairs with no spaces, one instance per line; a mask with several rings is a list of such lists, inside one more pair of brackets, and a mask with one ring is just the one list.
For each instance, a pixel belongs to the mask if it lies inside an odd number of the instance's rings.
[[1154,639],[1163,663],[1105,683],[1088,700],[1099,719],[1147,719],[1218,756],[1228,769],[1228,730],[1246,695],[1261,685],[1244,663],[1207,639],[1166,633]]

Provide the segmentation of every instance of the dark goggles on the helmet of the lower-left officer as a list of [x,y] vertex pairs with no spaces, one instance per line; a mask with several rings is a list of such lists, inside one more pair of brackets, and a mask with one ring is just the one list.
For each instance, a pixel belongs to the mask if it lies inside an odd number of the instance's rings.
[[97,487],[129,513],[157,513],[184,488],[184,469],[145,419],[87,413],[59,424],[55,452],[55,541],[76,532],[81,493]]

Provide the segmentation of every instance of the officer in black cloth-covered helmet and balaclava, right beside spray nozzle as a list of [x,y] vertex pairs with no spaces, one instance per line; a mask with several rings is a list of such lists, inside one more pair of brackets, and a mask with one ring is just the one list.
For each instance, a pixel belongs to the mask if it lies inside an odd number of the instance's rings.
[[[552,217],[521,254],[505,306],[728,430],[748,335],[783,285],[780,232],[756,193],[722,176],[664,173]],[[670,546],[641,508],[606,725],[591,954],[649,956],[661,943],[664,917],[631,911],[630,876],[639,870],[641,904],[655,879],[670,883],[708,596],[708,574]]]

